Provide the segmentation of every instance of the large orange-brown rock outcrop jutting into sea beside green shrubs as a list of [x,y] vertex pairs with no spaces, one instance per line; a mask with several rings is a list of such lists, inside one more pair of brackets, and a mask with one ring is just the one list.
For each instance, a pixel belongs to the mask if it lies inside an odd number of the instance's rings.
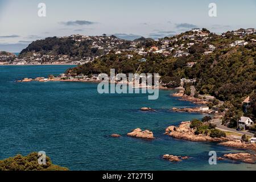
[[169,126],[166,129],[166,135],[177,139],[189,140],[192,142],[220,142],[223,138],[211,138],[209,136],[199,134],[195,135],[195,129],[190,128],[191,122],[181,122],[179,127]]

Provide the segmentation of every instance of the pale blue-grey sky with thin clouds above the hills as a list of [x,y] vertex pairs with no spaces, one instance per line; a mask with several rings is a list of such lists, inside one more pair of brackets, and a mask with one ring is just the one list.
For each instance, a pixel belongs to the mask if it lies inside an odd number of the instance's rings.
[[[38,4],[46,3],[46,17]],[[216,3],[217,17],[208,16]],[[256,27],[256,0],[0,0],[0,50],[19,52],[33,40],[71,34],[160,38],[206,27],[220,34]]]

